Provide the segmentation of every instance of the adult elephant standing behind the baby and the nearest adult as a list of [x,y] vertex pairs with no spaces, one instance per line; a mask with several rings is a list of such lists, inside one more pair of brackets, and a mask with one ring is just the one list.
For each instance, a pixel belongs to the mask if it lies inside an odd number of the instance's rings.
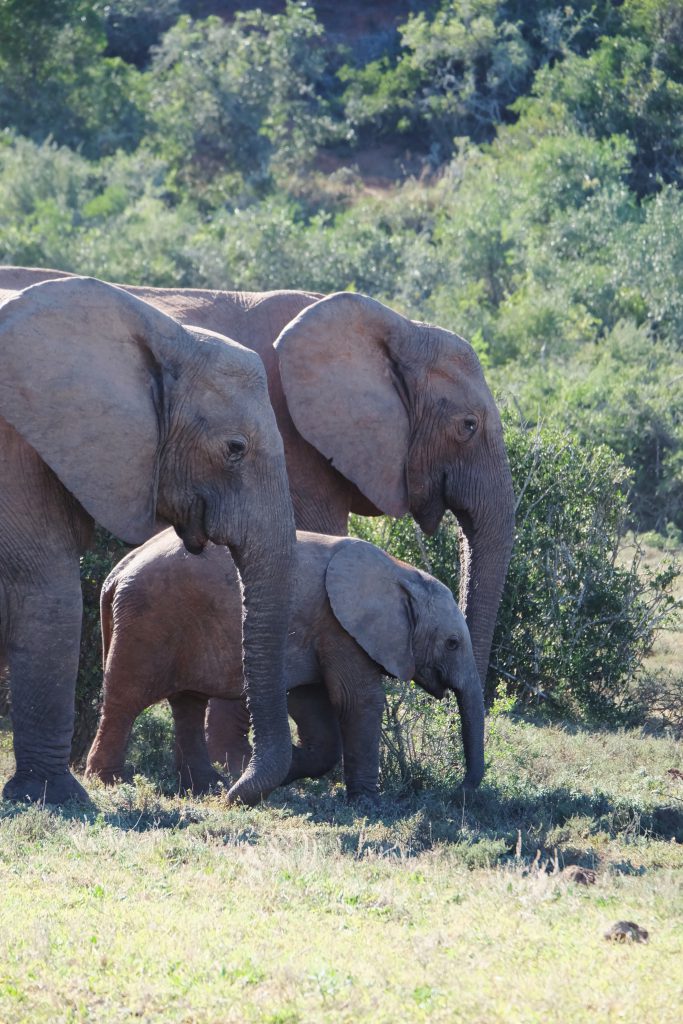
[[[54,271],[0,268],[0,287]],[[361,295],[130,288],[259,353],[297,526],[345,535],[349,512],[461,527],[460,606],[482,683],[514,534],[501,420],[473,349]],[[488,694],[490,697],[492,694]],[[298,722],[299,728],[305,724]],[[209,744],[248,752],[248,718],[212,701]]]

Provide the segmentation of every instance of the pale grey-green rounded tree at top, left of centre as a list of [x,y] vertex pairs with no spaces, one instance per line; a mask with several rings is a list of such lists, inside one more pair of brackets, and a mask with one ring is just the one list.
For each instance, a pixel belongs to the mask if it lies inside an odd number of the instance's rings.
[[258,190],[306,165],[331,127],[322,35],[312,9],[291,2],[230,24],[183,16],[166,33],[145,76],[147,110],[181,185],[231,175],[233,191]]

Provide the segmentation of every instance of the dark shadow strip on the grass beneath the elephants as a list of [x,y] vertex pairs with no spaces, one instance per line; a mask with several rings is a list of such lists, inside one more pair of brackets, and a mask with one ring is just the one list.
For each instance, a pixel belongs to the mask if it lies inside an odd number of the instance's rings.
[[[506,793],[484,782],[466,797],[432,786],[419,793],[386,792],[376,803],[349,803],[333,775],[275,791],[256,811],[228,808],[215,796],[207,801],[169,799],[176,795],[172,776],[141,777],[93,793],[88,805],[48,807],[44,815],[35,806],[2,803],[0,826],[26,842],[38,840],[43,829],[51,835],[59,822],[69,827],[75,821],[122,831],[164,829],[225,845],[296,844],[312,834],[325,849],[345,856],[417,857],[439,845],[470,866],[531,861],[538,851],[550,858],[557,850],[564,864],[595,866],[596,850],[605,841],[683,843],[683,804],[645,806],[562,786],[528,785]],[[296,827],[299,821],[301,828]],[[611,862],[622,873],[642,872],[628,857],[616,863],[612,856]]]

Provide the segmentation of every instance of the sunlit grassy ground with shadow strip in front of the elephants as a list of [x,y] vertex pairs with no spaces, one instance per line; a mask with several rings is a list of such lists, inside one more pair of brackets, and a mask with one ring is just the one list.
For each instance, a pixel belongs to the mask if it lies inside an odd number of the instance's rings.
[[[227,809],[141,777],[0,805],[0,1020],[680,1021],[680,743],[499,716],[488,756],[467,805],[326,780]],[[622,919],[649,941],[606,941]]]

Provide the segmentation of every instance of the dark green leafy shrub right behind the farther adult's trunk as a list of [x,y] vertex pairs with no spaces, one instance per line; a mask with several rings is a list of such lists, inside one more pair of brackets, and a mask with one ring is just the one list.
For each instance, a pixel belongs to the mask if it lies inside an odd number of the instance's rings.
[[[634,679],[673,605],[674,567],[618,560],[628,474],[604,445],[509,420],[518,495],[516,541],[498,617],[488,685],[579,719],[639,710]],[[458,536],[410,519],[354,517],[353,531],[432,572],[458,593]]]

